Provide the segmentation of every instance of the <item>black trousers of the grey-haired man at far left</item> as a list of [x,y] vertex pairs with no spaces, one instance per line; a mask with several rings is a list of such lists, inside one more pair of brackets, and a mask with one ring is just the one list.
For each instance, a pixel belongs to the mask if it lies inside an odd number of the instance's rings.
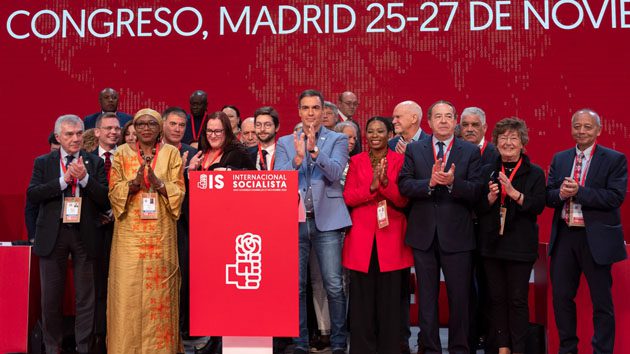
[[88,255],[78,226],[61,224],[52,253],[39,260],[42,286],[42,322],[47,353],[58,353],[63,339],[63,295],[68,255],[74,267],[75,339],[79,352],[88,352],[94,329],[94,260]]

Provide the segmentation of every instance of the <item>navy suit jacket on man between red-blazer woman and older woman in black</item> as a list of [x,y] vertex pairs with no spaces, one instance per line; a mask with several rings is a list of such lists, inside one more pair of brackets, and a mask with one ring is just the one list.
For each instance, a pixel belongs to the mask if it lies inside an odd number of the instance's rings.
[[446,252],[471,251],[475,248],[472,210],[481,190],[479,148],[455,138],[446,170],[455,164],[451,191],[446,186],[429,189],[433,170],[431,138],[407,146],[400,171],[400,193],[410,199],[406,242],[413,248],[427,250],[437,231],[440,248]]

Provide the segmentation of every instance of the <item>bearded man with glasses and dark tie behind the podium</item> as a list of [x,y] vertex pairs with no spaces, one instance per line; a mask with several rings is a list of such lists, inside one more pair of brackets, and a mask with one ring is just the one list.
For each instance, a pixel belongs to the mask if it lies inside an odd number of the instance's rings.
[[273,107],[260,107],[254,112],[254,128],[258,144],[247,149],[256,169],[271,171],[276,159],[276,134],[280,129],[278,111]]

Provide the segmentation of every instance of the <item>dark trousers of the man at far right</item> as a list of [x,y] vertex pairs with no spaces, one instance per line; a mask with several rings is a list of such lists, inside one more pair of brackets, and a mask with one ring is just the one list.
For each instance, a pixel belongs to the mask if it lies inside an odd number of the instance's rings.
[[612,301],[611,265],[595,263],[584,228],[569,228],[563,221],[558,228],[551,254],[553,312],[556,316],[560,354],[577,353],[577,313],[575,296],[584,273],[593,302],[593,353],[613,353],[615,311]]

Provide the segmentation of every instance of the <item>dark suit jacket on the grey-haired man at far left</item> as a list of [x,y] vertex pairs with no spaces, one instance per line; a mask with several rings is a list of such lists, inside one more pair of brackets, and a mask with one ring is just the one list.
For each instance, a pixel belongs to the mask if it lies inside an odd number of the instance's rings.
[[[98,214],[110,209],[107,197],[107,177],[103,160],[85,151],[80,152],[89,174],[87,185],[81,188],[81,222],[79,230],[88,254],[96,256],[97,238],[103,237]],[[35,227],[34,251],[41,257],[48,256],[57,242],[63,191],[60,189],[60,152],[53,151],[35,159],[33,175],[27,197],[39,205]]]

